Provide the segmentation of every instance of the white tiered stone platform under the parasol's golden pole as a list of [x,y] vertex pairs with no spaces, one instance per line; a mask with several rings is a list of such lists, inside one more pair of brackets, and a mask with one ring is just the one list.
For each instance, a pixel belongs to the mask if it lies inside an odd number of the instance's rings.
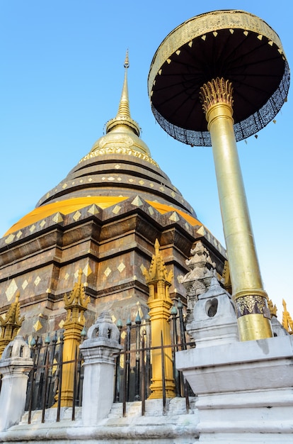
[[200,443],[293,443],[293,336],[176,353],[197,393]]

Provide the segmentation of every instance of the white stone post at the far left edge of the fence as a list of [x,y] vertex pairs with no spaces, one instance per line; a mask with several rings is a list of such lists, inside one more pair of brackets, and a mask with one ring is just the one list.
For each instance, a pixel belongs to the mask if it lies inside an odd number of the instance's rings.
[[9,343],[0,360],[0,431],[19,423],[25,410],[28,372],[33,367],[30,348],[22,336]]

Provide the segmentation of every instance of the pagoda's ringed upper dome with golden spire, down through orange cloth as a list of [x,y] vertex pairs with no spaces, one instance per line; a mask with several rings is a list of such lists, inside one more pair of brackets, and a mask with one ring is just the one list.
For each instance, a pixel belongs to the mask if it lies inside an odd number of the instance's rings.
[[[6,234],[36,223],[57,211],[70,213],[96,204],[106,208],[132,196],[142,196],[161,212],[176,209],[183,217],[196,214],[168,176],[151,157],[151,152],[139,137],[140,128],[130,115],[127,86],[128,54],[125,78],[115,118],[106,124],[105,135],[93,144],[67,177],[45,196],[36,208],[21,218]],[[193,221],[195,223],[195,221]]]

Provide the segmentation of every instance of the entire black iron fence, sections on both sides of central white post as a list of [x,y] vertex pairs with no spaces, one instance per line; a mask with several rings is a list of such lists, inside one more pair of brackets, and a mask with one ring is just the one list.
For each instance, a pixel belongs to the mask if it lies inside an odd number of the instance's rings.
[[[166,374],[164,355],[166,349],[171,349],[173,362],[173,380],[176,387],[176,396],[185,397],[186,409],[189,409],[189,396],[193,396],[183,374],[176,370],[176,351],[195,347],[195,343],[187,342],[185,338],[185,326],[183,322],[182,304],[173,306],[169,320],[171,328],[171,345],[151,346],[151,323],[148,318],[142,320],[139,315],[134,323],[127,321],[126,326],[118,321],[120,330],[120,343],[122,351],[116,357],[115,382],[113,401],[122,403],[122,414],[127,414],[127,402],[142,401],[142,415],[145,413],[145,400],[151,394],[150,385],[152,377],[151,354],[153,350],[161,350],[161,377],[162,377],[162,409],[166,413]],[[82,335],[81,343],[84,340]],[[76,348],[74,360],[63,361],[62,352],[64,346],[63,332],[54,333],[52,338],[48,334],[43,340],[40,337],[33,338],[30,343],[33,369],[28,379],[28,390],[25,410],[28,411],[28,423],[32,418],[32,412],[41,411],[41,421],[45,422],[45,411],[56,407],[56,421],[60,420],[62,398],[62,375],[67,365],[72,372],[72,414],[75,419],[76,406],[82,405],[82,391],[84,381],[83,358]],[[74,370],[72,370],[74,369]],[[1,379],[1,375],[0,375]],[[0,381],[1,384],[1,381]]]

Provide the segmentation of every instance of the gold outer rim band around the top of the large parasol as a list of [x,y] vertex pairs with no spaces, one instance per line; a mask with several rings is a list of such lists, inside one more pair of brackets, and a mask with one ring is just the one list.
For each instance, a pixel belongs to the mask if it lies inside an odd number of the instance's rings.
[[[268,23],[265,23],[261,18],[246,11],[239,10],[205,13],[181,23],[180,26],[167,35],[156,50],[149,72],[149,96],[151,95],[156,75],[159,73],[163,63],[170,59],[174,52],[178,51],[178,49],[185,44],[192,45],[195,38],[200,37],[205,40],[207,33],[216,33],[217,30],[222,29],[229,29],[230,32],[234,29],[243,29],[243,31],[247,33],[246,35],[248,35],[249,32],[253,32],[257,35],[265,36],[270,41],[270,45],[275,43],[279,52],[285,56],[279,36],[268,26]],[[217,35],[214,35],[214,38],[217,38]]]

